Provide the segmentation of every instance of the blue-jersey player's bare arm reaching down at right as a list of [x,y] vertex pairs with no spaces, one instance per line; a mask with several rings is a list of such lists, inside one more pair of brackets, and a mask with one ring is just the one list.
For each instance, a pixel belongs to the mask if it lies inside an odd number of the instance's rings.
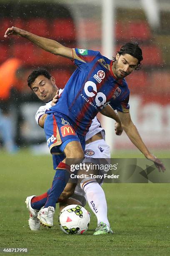
[[149,159],[150,161],[153,161],[155,166],[158,168],[159,172],[162,170],[165,171],[165,166],[163,163],[158,159],[156,156],[151,154],[148,150],[148,148],[145,146],[142,138],[140,137],[140,134],[138,133],[138,130],[136,126],[133,124],[130,113],[122,113],[118,111],[119,118],[122,123],[122,128],[124,129],[125,133],[128,135],[132,143],[144,154],[144,156]]

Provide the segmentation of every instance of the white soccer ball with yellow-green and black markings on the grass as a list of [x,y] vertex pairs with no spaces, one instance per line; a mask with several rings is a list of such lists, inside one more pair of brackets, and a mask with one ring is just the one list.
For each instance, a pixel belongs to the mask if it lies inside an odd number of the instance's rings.
[[90,215],[80,205],[68,205],[60,212],[58,222],[66,234],[84,234],[90,224]]

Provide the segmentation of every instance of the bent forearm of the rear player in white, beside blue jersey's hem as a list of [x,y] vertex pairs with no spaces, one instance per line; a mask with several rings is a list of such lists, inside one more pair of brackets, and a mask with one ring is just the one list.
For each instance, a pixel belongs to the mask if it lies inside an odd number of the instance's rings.
[[112,109],[110,105],[107,105],[105,108],[103,108],[100,113],[102,115],[105,115],[107,117],[110,117],[116,121],[115,123],[115,133],[116,135],[121,135],[123,132],[123,128],[121,125],[121,121],[115,110]]

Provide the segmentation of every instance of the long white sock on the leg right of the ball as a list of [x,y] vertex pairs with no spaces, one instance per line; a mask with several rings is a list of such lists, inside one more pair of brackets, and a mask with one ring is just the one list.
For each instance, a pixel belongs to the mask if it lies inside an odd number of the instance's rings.
[[105,193],[100,185],[93,178],[83,179],[81,188],[84,189],[87,202],[97,217],[97,224],[101,221],[110,227],[107,219],[107,203]]

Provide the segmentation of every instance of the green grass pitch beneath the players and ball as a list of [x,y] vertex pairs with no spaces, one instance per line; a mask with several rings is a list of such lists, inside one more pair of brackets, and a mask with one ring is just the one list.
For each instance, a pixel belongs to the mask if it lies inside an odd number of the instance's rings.
[[[155,153],[170,157],[166,151]],[[113,156],[141,154],[119,151]],[[28,150],[12,156],[0,153],[0,248],[28,248],[28,255],[36,256],[170,255],[169,184],[104,184],[114,235],[93,236],[97,226],[93,214],[85,236],[65,235],[57,224],[58,208],[53,228],[29,230],[25,198],[46,192],[53,175],[50,156],[34,156]]]

